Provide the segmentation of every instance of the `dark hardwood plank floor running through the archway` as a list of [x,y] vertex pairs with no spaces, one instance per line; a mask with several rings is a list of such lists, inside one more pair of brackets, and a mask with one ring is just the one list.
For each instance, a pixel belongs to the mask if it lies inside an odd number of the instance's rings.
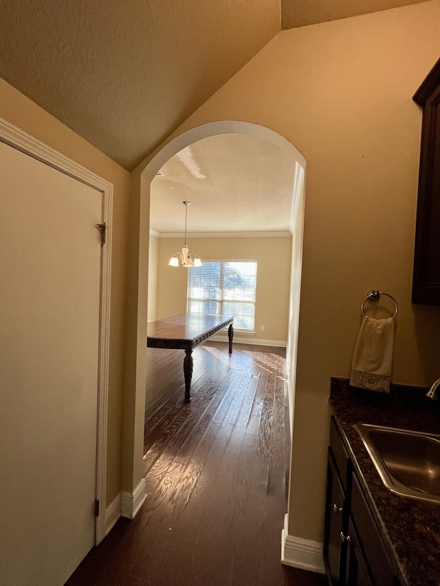
[[148,349],[147,499],[68,586],[316,586],[281,565],[289,423],[285,351],[208,342],[183,403],[181,350]]

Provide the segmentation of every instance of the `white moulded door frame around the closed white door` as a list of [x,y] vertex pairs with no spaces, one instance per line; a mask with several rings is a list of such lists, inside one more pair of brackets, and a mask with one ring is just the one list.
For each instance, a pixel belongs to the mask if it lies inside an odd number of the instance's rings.
[[107,230],[105,245],[101,247],[100,267],[98,412],[96,422],[96,499],[100,502],[100,506],[95,523],[95,545],[98,545],[105,537],[113,185],[2,118],[0,118],[0,141],[102,193],[102,221],[106,223]]

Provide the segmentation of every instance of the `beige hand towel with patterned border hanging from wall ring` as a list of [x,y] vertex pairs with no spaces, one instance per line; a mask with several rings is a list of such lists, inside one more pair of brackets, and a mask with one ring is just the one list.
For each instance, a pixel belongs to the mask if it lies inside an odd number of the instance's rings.
[[393,349],[393,318],[375,319],[366,315],[355,345],[350,384],[353,387],[389,393]]

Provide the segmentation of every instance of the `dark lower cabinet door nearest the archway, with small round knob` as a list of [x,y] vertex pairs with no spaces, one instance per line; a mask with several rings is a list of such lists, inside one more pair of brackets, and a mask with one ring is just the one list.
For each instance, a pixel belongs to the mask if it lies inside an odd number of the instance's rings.
[[324,559],[332,586],[342,584],[347,545],[344,541],[344,491],[329,448],[327,502],[325,513]]

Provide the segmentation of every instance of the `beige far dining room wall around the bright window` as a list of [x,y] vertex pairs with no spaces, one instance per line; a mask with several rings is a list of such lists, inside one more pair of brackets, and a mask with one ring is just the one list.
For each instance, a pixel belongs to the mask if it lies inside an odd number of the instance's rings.
[[[168,267],[181,246],[179,238],[159,238],[157,319],[186,312],[188,270]],[[292,238],[188,238],[188,246],[202,261],[256,260],[255,337],[287,340]],[[263,332],[260,326],[264,326]],[[234,337],[240,336],[249,334]]]

